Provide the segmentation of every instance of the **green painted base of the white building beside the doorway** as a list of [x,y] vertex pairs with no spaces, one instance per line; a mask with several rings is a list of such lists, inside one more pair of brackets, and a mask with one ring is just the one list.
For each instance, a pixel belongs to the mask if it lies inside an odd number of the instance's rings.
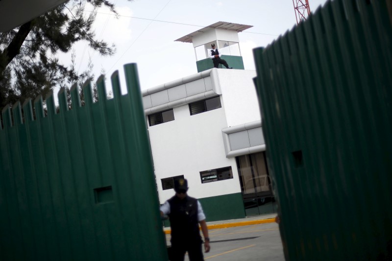
[[[200,198],[199,201],[207,222],[245,217],[245,208],[241,192]],[[169,227],[169,220],[165,220],[164,225],[165,227]]]

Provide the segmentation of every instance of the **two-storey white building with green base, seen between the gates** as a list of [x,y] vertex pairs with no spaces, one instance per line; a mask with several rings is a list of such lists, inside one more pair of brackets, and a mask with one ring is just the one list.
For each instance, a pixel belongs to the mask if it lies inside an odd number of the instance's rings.
[[[223,28],[229,23],[217,24],[197,31],[208,34],[201,34],[204,42],[192,36],[197,42],[195,50],[207,50],[213,42],[219,48],[225,40],[231,40],[229,46],[239,48],[239,43],[233,42],[235,37],[230,37],[238,31]],[[227,32],[211,32],[222,30]],[[230,66],[230,61],[242,63],[240,56],[222,58]],[[207,59],[203,66],[212,68],[212,61]],[[184,177],[188,180],[188,194],[200,200],[207,221],[276,212],[253,84],[255,76],[256,71],[213,68],[142,93],[161,204],[174,195],[174,179]]]

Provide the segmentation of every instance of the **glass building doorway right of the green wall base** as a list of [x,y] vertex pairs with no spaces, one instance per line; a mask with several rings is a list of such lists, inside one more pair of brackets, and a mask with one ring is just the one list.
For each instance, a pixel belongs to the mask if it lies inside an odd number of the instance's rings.
[[276,213],[265,152],[236,157],[246,216]]

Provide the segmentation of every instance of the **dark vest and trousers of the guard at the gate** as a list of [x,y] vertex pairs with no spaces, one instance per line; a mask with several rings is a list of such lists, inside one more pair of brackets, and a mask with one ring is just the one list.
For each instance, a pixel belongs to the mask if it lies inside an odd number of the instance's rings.
[[173,196],[168,202],[172,228],[172,261],[183,261],[186,251],[190,261],[204,260],[197,220],[197,199],[188,195],[184,199]]

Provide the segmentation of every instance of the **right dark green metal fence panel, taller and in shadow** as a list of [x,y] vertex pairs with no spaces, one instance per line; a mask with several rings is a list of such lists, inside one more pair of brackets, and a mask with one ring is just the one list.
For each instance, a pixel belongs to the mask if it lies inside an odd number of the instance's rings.
[[327,1],[254,56],[286,260],[392,260],[392,2]]

